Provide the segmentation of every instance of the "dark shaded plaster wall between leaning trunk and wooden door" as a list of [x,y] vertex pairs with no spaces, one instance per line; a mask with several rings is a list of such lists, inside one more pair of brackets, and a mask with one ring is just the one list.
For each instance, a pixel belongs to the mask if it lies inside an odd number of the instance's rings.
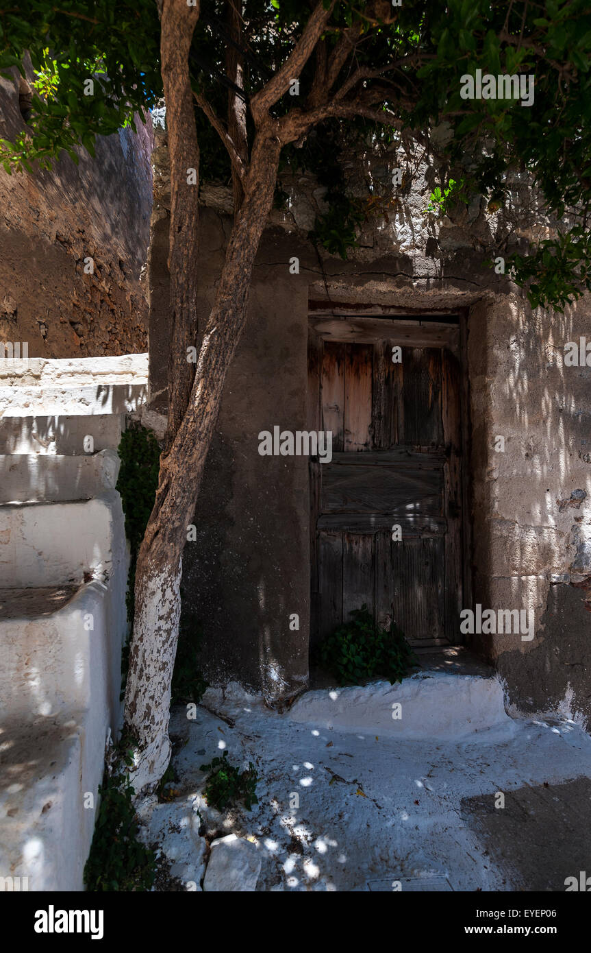
[[[205,212],[200,274],[207,315],[224,225]],[[276,246],[264,247],[276,260]],[[262,254],[260,257],[263,257]],[[307,290],[287,269],[256,269],[248,321],[227,375],[216,436],[183,558],[184,613],[204,627],[207,677],[238,678],[269,698],[302,687],[309,613],[305,457],[258,453],[258,434],[305,430]],[[300,629],[289,630],[297,613]]]

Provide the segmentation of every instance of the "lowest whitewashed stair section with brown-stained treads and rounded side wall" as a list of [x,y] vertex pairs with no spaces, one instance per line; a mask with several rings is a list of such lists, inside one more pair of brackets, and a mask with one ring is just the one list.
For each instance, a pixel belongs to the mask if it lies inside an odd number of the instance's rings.
[[121,723],[119,589],[0,591],[0,871],[33,891],[83,889],[105,742]]

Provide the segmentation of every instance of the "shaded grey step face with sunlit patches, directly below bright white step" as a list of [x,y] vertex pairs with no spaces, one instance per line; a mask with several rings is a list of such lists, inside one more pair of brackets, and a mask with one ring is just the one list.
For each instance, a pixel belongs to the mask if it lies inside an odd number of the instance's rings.
[[123,414],[3,416],[0,454],[87,456],[88,437],[90,453],[117,450],[124,429]]

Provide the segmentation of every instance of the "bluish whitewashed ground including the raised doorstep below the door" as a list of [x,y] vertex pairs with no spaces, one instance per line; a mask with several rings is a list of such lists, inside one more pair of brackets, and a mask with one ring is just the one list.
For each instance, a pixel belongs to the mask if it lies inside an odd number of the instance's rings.
[[[440,663],[283,714],[231,687],[194,720],[176,708],[172,800],[140,805],[169,874],[156,888],[563,891],[591,873],[591,739],[510,718],[497,679]],[[224,750],[259,774],[250,812],[203,798],[200,765]]]

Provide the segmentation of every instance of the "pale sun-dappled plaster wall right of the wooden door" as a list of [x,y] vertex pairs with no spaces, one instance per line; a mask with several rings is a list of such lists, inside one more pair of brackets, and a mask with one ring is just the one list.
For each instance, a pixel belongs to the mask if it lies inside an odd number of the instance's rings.
[[477,644],[520,708],[570,710],[588,726],[591,371],[565,366],[563,348],[587,332],[591,301],[561,315],[509,296],[483,311],[469,338],[475,598],[532,610],[536,635]]

